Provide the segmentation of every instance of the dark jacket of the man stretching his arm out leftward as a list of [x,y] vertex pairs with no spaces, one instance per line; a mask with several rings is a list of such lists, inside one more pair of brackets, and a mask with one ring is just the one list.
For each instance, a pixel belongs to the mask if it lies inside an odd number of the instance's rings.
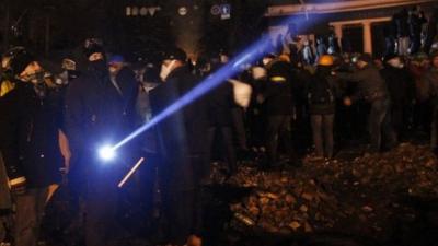
[[357,82],[357,91],[353,99],[365,99],[368,103],[388,98],[388,89],[380,71],[374,66],[367,65],[354,73],[337,73],[339,79]]

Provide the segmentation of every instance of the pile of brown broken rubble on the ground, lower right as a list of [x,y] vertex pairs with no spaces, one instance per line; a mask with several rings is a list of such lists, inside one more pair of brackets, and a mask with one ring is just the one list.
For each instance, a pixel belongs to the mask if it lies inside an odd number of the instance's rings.
[[400,196],[438,196],[437,176],[435,155],[410,143],[353,161],[304,159],[299,168],[261,172],[245,165],[229,181],[253,191],[231,210],[235,221],[272,233],[355,230],[355,224],[379,232],[391,208],[400,207]]

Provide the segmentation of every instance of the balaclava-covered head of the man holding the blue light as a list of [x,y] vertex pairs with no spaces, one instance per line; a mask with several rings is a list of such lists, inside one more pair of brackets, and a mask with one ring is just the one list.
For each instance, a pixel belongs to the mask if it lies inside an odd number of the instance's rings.
[[103,43],[99,38],[88,38],[83,45],[83,54],[89,62],[89,70],[103,73],[106,69],[106,58]]

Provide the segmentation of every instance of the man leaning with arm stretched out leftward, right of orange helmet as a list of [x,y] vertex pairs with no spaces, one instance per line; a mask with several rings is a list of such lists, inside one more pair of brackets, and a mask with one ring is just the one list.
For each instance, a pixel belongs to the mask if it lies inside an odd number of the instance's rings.
[[395,133],[391,127],[390,106],[387,84],[380,74],[380,71],[372,65],[372,57],[369,54],[361,55],[356,62],[358,68],[354,73],[338,73],[341,79],[350,82],[357,82],[355,95],[345,98],[344,104],[351,105],[351,99],[365,99],[371,105],[371,112],[368,117],[369,133],[371,138],[371,151],[379,152],[382,148],[382,136],[388,145],[392,148],[395,144]]

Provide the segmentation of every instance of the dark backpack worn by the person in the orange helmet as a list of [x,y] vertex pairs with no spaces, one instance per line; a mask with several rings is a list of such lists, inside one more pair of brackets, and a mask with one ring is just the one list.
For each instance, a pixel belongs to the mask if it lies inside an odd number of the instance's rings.
[[333,104],[335,96],[325,78],[314,77],[308,91],[309,105]]

